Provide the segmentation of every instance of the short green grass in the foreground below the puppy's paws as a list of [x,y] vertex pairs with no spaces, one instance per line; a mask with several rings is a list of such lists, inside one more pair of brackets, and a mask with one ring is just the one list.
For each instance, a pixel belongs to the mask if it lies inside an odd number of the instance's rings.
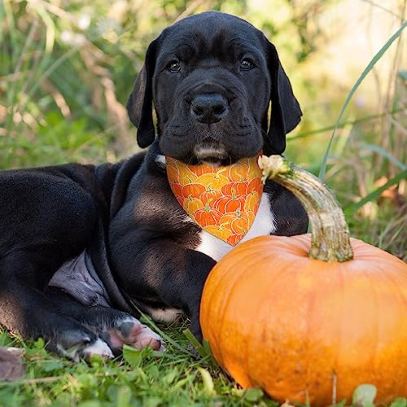
[[242,390],[222,370],[193,358],[184,324],[166,329],[167,352],[125,347],[115,360],[94,358],[88,364],[57,358],[39,340],[0,343],[23,346],[26,377],[0,382],[1,406],[277,406],[259,389]]

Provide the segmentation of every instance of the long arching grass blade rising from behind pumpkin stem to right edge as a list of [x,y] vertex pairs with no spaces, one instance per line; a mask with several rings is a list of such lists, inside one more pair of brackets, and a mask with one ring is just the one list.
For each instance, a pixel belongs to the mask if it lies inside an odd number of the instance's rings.
[[369,64],[367,65],[367,67],[364,69],[364,71],[362,72],[362,74],[359,76],[358,80],[355,82],[355,84],[353,85],[351,92],[347,95],[346,100],[342,106],[342,109],[339,113],[339,117],[338,120],[335,123],[335,127],[334,130],[332,132],[332,135],[329,139],[328,142],[328,146],[327,149],[325,151],[325,156],[322,160],[321,163],[321,169],[319,170],[319,174],[318,174],[318,178],[320,180],[323,180],[324,176],[325,176],[325,172],[326,172],[326,168],[327,168],[327,162],[328,162],[328,157],[329,157],[329,152],[331,150],[331,145],[333,142],[333,139],[335,137],[335,133],[336,130],[339,127],[339,123],[342,120],[343,117],[343,113],[346,110],[346,107],[348,106],[348,104],[350,103],[353,95],[355,94],[356,90],[359,88],[360,84],[363,82],[364,78],[368,75],[368,73],[373,69],[374,65],[377,63],[377,61],[379,61],[381,59],[381,57],[384,55],[384,53],[387,51],[387,49],[390,47],[390,45],[398,38],[400,37],[401,33],[403,32],[404,28],[407,27],[407,21],[405,21],[403,24],[401,24],[400,28],[390,37],[390,39],[386,42],[385,45],[383,45],[383,47],[379,50],[379,52],[377,52],[372,60],[369,62]]

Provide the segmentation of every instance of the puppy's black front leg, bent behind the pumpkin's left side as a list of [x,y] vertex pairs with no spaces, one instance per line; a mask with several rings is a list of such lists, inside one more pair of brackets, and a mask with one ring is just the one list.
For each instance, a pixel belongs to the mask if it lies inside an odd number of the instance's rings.
[[[166,237],[164,237],[166,236]],[[215,260],[183,247],[157,230],[134,230],[110,240],[114,274],[126,297],[153,317],[158,311],[181,310],[201,340],[199,306],[203,285]],[[163,318],[165,319],[165,318]]]

